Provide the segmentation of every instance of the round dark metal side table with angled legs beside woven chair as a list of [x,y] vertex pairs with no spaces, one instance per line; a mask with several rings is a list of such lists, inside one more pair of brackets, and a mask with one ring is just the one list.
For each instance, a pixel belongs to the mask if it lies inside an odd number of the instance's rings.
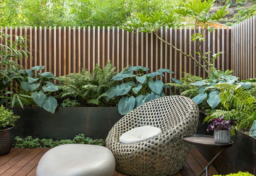
[[185,135],[182,136],[182,140],[186,143],[205,146],[205,147],[219,147],[222,148],[219,153],[209,162],[209,164],[201,171],[199,176],[201,176],[204,172],[206,172],[206,176],[208,176],[209,167],[213,164],[213,162],[228,148],[233,145],[233,142],[230,141],[227,144],[220,144],[214,141],[213,136],[208,135]]

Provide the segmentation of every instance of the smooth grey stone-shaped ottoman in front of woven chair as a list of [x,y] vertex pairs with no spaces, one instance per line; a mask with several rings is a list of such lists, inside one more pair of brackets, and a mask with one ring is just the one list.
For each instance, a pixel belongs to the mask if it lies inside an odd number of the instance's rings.
[[113,176],[115,158],[103,146],[66,144],[47,151],[37,166],[37,176]]

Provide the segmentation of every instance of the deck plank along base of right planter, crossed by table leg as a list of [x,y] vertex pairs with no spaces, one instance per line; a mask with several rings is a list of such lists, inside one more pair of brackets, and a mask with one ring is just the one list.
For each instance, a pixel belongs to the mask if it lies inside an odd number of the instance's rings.
[[[192,148],[190,150],[190,153],[198,161],[202,168],[205,168],[208,165],[209,162],[207,161],[207,159],[205,159],[205,157],[202,157],[202,154],[197,149]],[[218,171],[213,166],[210,166],[209,175],[218,175]]]

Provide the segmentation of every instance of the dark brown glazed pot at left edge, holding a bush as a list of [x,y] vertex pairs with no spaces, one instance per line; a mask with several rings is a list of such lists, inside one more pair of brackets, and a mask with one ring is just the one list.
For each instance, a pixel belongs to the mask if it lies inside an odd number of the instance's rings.
[[15,138],[15,128],[10,127],[0,130],[0,155],[4,155],[11,151]]

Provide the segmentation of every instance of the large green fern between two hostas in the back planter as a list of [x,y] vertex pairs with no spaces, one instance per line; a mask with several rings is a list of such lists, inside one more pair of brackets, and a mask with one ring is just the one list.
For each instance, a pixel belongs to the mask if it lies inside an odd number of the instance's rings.
[[62,83],[59,89],[63,90],[61,97],[78,99],[83,105],[107,106],[104,97],[107,97],[106,91],[118,83],[111,81],[115,74],[115,67],[107,62],[103,69],[96,64],[91,73],[82,69],[81,73],[59,77],[57,80]]

